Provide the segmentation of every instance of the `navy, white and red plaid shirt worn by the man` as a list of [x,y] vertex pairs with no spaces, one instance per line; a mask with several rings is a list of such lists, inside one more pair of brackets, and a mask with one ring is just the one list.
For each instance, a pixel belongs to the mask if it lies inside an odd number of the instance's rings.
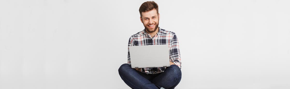
[[[178,39],[174,32],[166,31],[164,29],[160,29],[154,37],[151,37],[145,29],[137,34],[134,34],[130,37],[128,42],[128,64],[131,65],[129,46],[146,46],[146,45],[162,45],[168,44],[169,47],[169,61],[172,61],[175,65],[177,65],[181,69],[181,59],[180,59],[180,51],[178,45]],[[169,62],[168,61],[168,62]],[[156,74],[160,72],[164,72],[166,67],[157,67],[157,68],[142,68],[141,72],[146,74]]]

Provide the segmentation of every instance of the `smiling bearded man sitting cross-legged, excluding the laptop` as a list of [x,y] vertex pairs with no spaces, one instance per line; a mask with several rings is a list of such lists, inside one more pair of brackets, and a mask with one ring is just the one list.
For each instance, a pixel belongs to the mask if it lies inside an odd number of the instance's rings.
[[[168,62],[170,62],[170,67],[131,68],[128,47],[128,63],[120,66],[119,75],[133,89],[174,89],[181,80],[178,39],[174,32],[158,27],[160,14],[158,13],[157,3],[154,1],[144,2],[139,8],[139,12],[140,20],[145,29],[132,35],[128,46],[168,44],[170,53]],[[144,56],[150,55],[144,53]]]

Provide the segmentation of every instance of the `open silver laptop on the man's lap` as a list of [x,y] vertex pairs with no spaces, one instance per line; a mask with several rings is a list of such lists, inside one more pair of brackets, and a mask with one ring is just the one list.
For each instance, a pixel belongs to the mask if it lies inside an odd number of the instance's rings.
[[132,68],[169,67],[167,45],[129,46]]

